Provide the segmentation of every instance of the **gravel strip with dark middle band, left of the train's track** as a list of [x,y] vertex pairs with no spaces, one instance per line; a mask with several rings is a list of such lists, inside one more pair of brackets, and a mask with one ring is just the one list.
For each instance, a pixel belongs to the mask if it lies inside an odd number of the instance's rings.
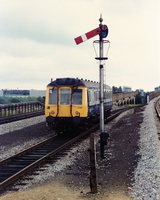
[[[36,129],[34,128],[34,126]],[[52,132],[45,127],[45,116],[0,125],[0,161],[13,156],[45,139]]]

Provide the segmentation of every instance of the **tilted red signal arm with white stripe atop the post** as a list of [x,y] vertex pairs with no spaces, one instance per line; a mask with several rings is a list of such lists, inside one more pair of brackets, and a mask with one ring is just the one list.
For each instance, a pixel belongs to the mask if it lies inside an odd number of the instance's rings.
[[101,33],[101,29],[100,29],[100,27],[98,27],[98,28],[95,28],[92,31],[85,33],[84,35],[81,35],[77,38],[74,38],[74,40],[75,40],[76,44],[80,44],[80,43],[85,42],[86,40],[100,34],[100,33]]

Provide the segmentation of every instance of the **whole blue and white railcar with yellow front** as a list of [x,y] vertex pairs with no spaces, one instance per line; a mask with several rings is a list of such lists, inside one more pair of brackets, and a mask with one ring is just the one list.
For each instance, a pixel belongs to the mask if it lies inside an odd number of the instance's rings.
[[[75,130],[99,120],[99,83],[78,78],[57,78],[46,87],[46,124],[57,133]],[[104,85],[104,115],[112,108],[112,90]]]

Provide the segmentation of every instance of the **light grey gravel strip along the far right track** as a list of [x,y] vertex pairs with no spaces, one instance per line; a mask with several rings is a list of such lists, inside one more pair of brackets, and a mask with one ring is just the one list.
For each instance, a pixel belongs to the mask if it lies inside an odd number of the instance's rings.
[[140,159],[134,172],[131,194],[140,200],[160,200],[160,140],[157,134],[155,100],[146,106],[139,133],[137,154]]

